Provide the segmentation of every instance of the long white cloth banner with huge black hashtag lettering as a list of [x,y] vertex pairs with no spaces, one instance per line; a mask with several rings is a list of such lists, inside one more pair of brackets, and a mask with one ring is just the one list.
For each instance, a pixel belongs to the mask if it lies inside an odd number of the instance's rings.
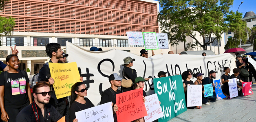
[[[115,47],[113,47],[115,48]],[[101,100],[101,94],[105,89],[110,87],[108,76],[118,73],[122,76],[124,66],[123,59],[132,57],[136,59],[133,63],[133,69],[137,71],[137,76],[143,78],[158,78],[159,71],[168,72],[167,76],[182,74],[186,70],[193,73],[204,73],[203,77],[208,76],[210,70],[215,70],[216,80],[221,79],[224,74],[223,68],[230,67],[231,73],[235,66],[234,54],[219,54],[211,56],[189,55],[189,54],[159,54],[152,57],[144,58],[137,54],[122,50],[104,50],[93,52],[75,46],[69,42],[66,43],[67,61],[77,62],[80,76],[83,76],[83,82],[89,87],[87,97],[98,105]],[[195,81],[195,78],[191,79]],[[153,81],[147,81],[144,90],[147,95],[154,94]]]

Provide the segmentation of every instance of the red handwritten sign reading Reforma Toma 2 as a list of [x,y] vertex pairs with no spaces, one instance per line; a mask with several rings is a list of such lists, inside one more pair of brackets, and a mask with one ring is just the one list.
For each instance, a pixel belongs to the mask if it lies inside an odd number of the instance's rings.
[[116,105],[118,122],[131,122],[148,115],[143,102],[143,88],[117,94]]

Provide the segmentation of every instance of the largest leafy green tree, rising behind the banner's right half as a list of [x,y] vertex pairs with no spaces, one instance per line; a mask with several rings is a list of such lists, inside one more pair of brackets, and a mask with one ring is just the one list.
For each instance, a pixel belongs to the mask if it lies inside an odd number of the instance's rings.
[[[207,45],[215,39],[220,39],[221,35],[227,32],[230,23],[226,21],[226,17],[230,15],[229,9],[233,1],[160,0],[163,10],[158,14],[158,21],[163,33],[173,33],[172,35],[183,33],[197,41],[203,50],[207,50]],[[176,32],[172,29],[175,27],[179,27]],[[196,36],[203,39],[202,44]],[[215,37],[214,40],[212,37]],[[210,40],[206,41],[206,38]]]

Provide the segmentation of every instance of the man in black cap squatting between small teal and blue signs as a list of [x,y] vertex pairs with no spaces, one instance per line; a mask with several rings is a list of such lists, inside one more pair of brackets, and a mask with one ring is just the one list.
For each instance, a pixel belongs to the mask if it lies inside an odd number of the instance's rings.
[[216,94],[215,94],[215,84],[213,83],[213,79],[216,78],[216,72],[211,70],[209,72],[209,76],[206,77],[206,78],[203,78],[202,82],[203,82],[203,85],[206,85],[206,84],[210,84],[212,83],[212,87],[213,87],[213,96],[208,96],[208,100],[216,100],[217,97],[216,97]]

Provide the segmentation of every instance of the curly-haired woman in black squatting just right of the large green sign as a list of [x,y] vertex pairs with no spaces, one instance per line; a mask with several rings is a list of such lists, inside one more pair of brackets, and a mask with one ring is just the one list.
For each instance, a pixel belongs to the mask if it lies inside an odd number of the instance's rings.
[[201,106],[196,106],[196,107],[188,107],[188,96],[187,96],[187,89],[188,89],[188,85],[190,86],[193,85],[193,81],[190,81],[190,79],[192,78],[192,72],[191,71],[185,71],[181,74],[181,78],[183,79],[183,88],[184,88],[184,92],[185,92],[185,101],[186,101],[186,105],[188,109],[201,109]]

